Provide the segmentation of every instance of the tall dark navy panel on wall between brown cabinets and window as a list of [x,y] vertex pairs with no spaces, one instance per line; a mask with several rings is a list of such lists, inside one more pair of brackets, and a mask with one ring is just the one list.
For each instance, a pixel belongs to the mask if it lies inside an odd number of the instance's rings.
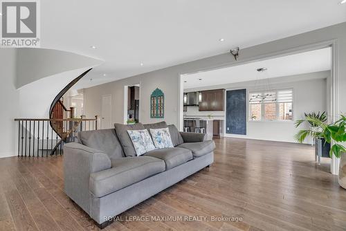
[[246,89],[226,92],[226,133],[246,135]]

